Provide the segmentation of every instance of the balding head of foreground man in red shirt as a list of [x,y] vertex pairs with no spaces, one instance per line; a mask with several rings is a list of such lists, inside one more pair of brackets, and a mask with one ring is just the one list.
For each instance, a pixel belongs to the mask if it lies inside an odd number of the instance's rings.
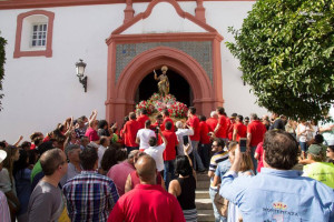
[[135,164],[140,183],[156,184],[157,165],[150,155],[143,155]]

